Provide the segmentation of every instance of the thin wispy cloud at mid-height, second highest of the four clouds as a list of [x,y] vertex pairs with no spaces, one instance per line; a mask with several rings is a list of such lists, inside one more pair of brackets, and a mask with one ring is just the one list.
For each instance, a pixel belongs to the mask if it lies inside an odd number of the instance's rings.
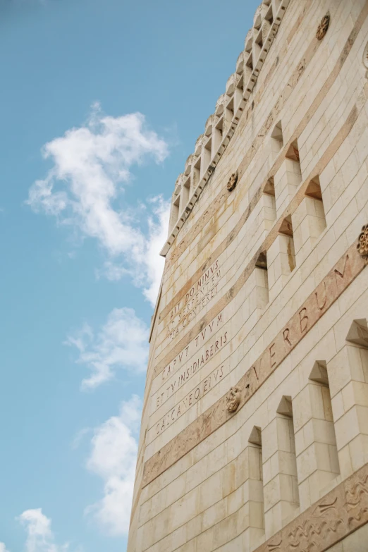
[[129,308],[113,309],[106,324],[94,333],[85,324],[68,336],[66,345],[79,350],[77,362],[86,364],[92,374],[82,388],[95,388],[114,377],[116,369],[144,372],[148,358],[149,329]]

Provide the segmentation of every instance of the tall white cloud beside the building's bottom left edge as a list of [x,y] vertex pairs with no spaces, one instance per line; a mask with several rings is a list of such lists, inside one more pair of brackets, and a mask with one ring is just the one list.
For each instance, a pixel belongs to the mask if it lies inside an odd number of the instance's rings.
[[86,514],[111,535],[127,534],[129,529],[140,411],[140,399],[133,395],[121,404],[118,416],[94,429],[87,469],[103,479],[104,496]]

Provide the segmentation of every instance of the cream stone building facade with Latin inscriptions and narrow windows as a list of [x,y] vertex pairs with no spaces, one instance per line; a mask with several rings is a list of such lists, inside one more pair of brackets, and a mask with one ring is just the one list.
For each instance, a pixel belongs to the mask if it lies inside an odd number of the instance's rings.
[[129,552],[368,551],[368,2],[264,0],[176,181]]

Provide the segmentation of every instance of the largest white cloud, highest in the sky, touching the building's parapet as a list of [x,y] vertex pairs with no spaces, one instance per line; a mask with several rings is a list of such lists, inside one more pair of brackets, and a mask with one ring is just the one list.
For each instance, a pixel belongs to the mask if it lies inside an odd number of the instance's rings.
[[53,166],[33,183],[27,200],[34,211],[97,239],[109,257],[104,273],[111,279],[131,274],[152,303],[164,262],[159,250],[168,228],[168,202],[161,197],[148,202],[140,221],[121,203],[131,167],[146,159],[161,163],[167,155],[166,142],[147,128],[145,116],[104,116],[95,104],[85,126],[44,146],[43,156]]

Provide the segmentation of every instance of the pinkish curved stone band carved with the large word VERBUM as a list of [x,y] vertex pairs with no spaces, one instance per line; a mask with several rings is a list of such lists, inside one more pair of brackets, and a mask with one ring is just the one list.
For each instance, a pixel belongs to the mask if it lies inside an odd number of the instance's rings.
[[[279,331],[274,341],[269,343],[262,355],[238,381],[239,388],[243,390],[238,410],[247,403],[255,391],[262,386],[290,351],[300,343],[307,332],[331,307],[341,293],[348,288],[352,280],[360,274],[367,264],[368,259],[362,259],[357,252],[356,244],[353,244],[300,306],[300,309],[295,312],[288,324]],[[226,395],[223,395],[216,404],[209,407],[206,412],[203,412],[162,448],[160,461],[158,461],[159,457],[156,454],[145,462],[143,486],[167,470],[179,458],[188,453],[188,450],[197,446],[204,438],[207,438],[227,421]],[[180,446],[178,446],[178,443],[180,443]],[[162,458],[165,458],[164,462]]]

